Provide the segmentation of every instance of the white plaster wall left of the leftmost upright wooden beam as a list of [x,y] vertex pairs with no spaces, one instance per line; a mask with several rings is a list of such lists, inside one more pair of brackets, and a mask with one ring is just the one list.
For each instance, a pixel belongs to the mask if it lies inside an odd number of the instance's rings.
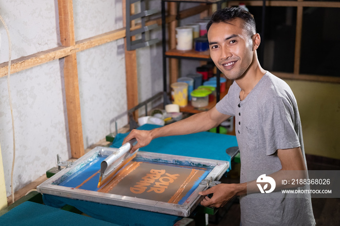
[[[12,59],[58,46],[54,1],[2,0],[0,14],[11,35]],[[0,62],[8,61],[8,40],[0,25]],[[56,164],[56,154],[68,159],[65,109],[59,60],[11,76],[16,131],[14,190],[43,175]],[[12,122],[7,77],[0,78],[0,144],[7,195],[13,159]]]

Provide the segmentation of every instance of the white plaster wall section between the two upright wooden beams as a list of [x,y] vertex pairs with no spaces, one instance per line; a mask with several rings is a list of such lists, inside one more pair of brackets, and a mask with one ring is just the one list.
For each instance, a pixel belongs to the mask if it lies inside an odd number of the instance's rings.
[[[76,40],[123,27],[121,0],[73,1]],[[85,148],[115,130],[112,119],[127,110],[123,39],[77,53]],[[127,118],[118,121],[118,128]]]

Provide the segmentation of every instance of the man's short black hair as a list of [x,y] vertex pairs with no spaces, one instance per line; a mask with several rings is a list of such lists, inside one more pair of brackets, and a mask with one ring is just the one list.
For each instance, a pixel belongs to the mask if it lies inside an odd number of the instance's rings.
[[254,16],[248,11],[242,8],[224,8],[217,10],[210,18],[210,21],[206,25],[206,30],[209,31],[210,26],[213,23],[228,23],[229,21],[233,21],[236,18],[241,18],[244,21],[244,28],[249,32],[250,35],[256,33],[256,24]]

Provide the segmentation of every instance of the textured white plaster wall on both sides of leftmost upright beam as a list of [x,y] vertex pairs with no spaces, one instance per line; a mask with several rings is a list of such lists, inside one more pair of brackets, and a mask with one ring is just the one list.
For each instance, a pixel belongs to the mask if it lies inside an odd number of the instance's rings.
[[[75,38],[82,40],[122,27],[121,0],[74,0]],[[57,0],[2,0],[0,15],[10,30],[12,59],[60,46]],[[8,61],[8,41],[0,25],[0,63]],[[111,119],[126,111],[123,40],[77,53],[85,148],[114,130]],[[64,60],[11,75],[16,131],[14,189],[70,158],[63,75]],[[119,120],[119,128],[126,125]],[[13,156],[7,77],[0,78],[0,145],[7,195]],[[1,166],[1,165],[0,165]]]

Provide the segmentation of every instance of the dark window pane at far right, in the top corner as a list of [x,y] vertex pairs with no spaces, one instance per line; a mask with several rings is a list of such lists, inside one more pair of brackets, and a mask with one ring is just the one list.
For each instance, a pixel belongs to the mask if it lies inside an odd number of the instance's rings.
[[304,8],[300,73],[340,77],[340,8]]

